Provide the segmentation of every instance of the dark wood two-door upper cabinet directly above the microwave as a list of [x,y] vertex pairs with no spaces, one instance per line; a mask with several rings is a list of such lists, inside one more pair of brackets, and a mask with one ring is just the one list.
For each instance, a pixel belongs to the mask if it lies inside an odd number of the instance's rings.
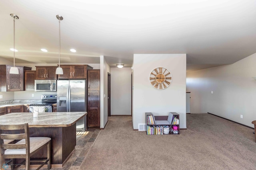
[[57,80],[57,66],[36,66],[36,80]]

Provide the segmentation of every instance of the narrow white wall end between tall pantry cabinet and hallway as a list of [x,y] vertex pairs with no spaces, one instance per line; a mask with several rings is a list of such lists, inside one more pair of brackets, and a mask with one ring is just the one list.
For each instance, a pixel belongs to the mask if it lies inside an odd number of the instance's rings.
[[[110,66],[103,55],[100,56],[100,128],[104,128],[108,122],[108,72]],[[105,98],[104,98],[105,96]]]

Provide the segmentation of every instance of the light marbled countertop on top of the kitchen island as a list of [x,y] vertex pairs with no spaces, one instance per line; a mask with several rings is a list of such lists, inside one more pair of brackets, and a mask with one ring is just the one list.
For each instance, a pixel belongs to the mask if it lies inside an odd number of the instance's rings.
[[1,115],[0,124],[18,125],[28,123],[29,127],[68,127],[74,125],[87,112],[42,112],[38,117],[33,113],[8,113]]

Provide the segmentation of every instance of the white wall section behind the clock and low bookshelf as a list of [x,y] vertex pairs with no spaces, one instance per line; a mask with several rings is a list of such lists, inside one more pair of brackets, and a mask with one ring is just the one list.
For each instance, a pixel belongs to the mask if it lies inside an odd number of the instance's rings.
[[[150,84],[150,72],[156,67],[167,68],[172,74],[172,83],[164,90]],[[177,112],[180,128],[186,128],[186,54],[134,54],[133,76],[134,129],[138,129],[138,123],[145,123],[145,112]]]

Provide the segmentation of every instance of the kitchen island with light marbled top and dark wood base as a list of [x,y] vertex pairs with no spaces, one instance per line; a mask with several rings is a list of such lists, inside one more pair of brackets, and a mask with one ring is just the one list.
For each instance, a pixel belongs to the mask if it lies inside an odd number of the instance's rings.
[[[87,112],[9,113],[0,116],[0,124],[17,125],[28,123],[30,137],[50,137],[52,168],[62,168],[76,146],[76,122]],[[42,158],[46,149],[32,158]]]

